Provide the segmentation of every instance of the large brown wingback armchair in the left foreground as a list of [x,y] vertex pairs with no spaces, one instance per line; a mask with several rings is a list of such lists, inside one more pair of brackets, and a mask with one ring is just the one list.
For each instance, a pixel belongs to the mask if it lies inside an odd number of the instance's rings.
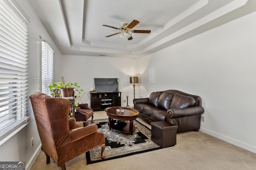
[[76,119],[68,119],[68,100],[51,98],[40,92],[32,94],[30,100],[46,164],[52,158],[62,170],[66,170],[65,162],[99,146],[102,147],[101,157],[105,158],[104,134],[97,131],[97,125],[81,127],[76,124]]

